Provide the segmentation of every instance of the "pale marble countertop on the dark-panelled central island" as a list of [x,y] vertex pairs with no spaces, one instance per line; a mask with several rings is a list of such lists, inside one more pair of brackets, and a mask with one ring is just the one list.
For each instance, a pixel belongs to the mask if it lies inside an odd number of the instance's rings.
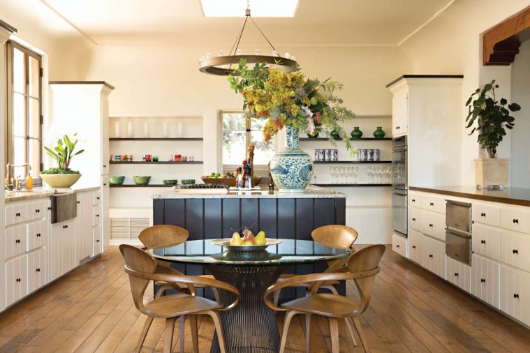
[[[334,197],[346,197],[345,194],[339,193],[335,190],[320,188],[318,186],[309,186],[304,193],[280,193],[278,190],[270,191],[267,188],[262,188],[256,191],[228,191],[227,193],[208,193],[204,189],[204,193],[200,189],[194,189],[189,193],[186,191],[165,191],[163,193],[156,193],[153,199],[253,199],[253,198],[269,198],[269,199],[325,199]],[[221,189],[224,190],[224,189]]]

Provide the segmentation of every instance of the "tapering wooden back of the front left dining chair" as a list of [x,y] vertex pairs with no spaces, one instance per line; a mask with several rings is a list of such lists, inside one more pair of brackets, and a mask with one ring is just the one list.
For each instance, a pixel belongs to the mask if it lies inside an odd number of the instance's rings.
[[[145,251],[135,248],[134,246],[122,244],[119,246],[119,251],[125,260],[125,266],[134,271],[142,273],[154,273],[156,269],[156,261],[151,255]],[[131,283],[131,294],[133,295],[134,305],[142,313],[145,313],[144,308],[144,293],[149,280],[128,275],[129,283]]]

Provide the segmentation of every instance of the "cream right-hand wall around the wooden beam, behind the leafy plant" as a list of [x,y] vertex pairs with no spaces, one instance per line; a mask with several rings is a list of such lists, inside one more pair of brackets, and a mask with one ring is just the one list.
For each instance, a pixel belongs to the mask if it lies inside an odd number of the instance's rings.
[[[473,158],[478,158],[476,135],[464,128],[469,94],[492,77],[501,80],[501,95],[510,98],[509,68],[483,68],[481,33],[529,6],[528,0],[457,0],[401,46],[411,58],[411,73],[463,74],[461,183],[474,185]],[[509,156],[510,142],[501,146]]]

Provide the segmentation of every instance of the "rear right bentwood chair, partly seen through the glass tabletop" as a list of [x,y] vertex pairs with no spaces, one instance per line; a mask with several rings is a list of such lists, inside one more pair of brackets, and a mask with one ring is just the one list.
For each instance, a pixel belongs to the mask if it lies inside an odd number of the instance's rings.
[[[353,243],[355,240],[357,240],[357,231],[354,230],[352,227],[348,227],[346,225],[324,225],[322,227],[318,227],[313,232],[311,232],[311,237],[314,241],[317,241],[318,243],[327,245],[327,246],[334,246],[337,248],[351,248],[353,250]],[[327,264],[327,271],[347,271],[346,269],[346,260],[337,260],[334,262],[330,262]],[[293,278],[297,275],[292,273],[282,273],[278,279],[278,282],[281,283],[284,280],[287,280],[288,278]],[[339,294],[337,290],[335,289],[335,285],[339,284],[338,281],[329,281],[327,283],[323,283],[321,285],[321,288],[324,288],[326,290],[330,290],[333,294]],[[309,286],[311,283],[299,283],[296,286],[291,287],[303,287],[309,289]],[[278,304],[280,297],[280,291],[274,292],[274,304]]]

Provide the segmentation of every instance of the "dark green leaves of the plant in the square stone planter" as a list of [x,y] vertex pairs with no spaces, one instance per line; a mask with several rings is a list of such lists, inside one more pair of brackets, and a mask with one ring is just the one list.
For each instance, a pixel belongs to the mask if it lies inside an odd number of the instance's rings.
[[[478,132],[478,144],[487,149],[489,156],[496,156],[496,148],[506,135],[504,128],[513,129],[515,118],[510,112],[521,110],[517,103],[508,104],[508,100],[501,98],[500,102],[495,98],[495,89],[499,88],[495,80],[486,84],[482,91],[476,89],[466,102],[469,113],[466,117],[466,128],[473,128],[469,135]],[[508,104],[508,109],[506,105]],[[473,126],[473,123],[477,123]]]

